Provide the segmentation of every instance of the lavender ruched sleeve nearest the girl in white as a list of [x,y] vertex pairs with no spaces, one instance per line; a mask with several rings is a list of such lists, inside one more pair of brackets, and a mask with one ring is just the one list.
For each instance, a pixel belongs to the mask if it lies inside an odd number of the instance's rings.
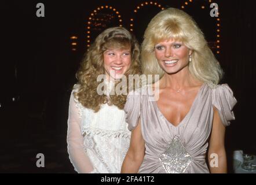
[[126,123],[129,131],[132,131],[138,124],[141,113],[141,95],[138,91],[131,91],[127,95],[125,104]]

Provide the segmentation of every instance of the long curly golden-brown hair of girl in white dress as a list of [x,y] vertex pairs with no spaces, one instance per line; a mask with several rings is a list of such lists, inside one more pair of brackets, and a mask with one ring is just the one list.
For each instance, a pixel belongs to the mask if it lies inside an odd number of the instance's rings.
[[[104,74],[103,53],[107,49],[127,49],[131,48],[131,66],[125,73],[125,76],[140,74],[140,46],[137,39],[127,29],[122,27],[113,27],[105,29],[89,47],[81,66],[76,73],[78,87],[74,92],[74,97],[86,108],[98,112],[101,105],[110,103],[123,109],[127,95],[99,95],[97,86],[98,75]],[[128,87],[128,86],[126,86]],[[127,89],[128,90],[128,89]]]

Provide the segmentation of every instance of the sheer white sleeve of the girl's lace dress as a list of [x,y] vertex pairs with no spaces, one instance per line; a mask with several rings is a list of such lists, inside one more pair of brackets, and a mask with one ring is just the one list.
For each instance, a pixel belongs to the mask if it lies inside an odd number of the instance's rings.
[[[73,92],[70,97],[70,107],[68,111],[68,131],[67,144],[68,154],[75,171],[78,173],[97,173],[93,168],[92,162],[86,154],[83,145],[83,136],[81,132],[81,107],[74,98]],[[80,105],[81,106],[81,105]]]

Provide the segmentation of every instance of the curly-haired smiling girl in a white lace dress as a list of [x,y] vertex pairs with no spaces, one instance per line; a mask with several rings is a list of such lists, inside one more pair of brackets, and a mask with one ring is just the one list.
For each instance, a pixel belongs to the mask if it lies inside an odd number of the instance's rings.
[[[140,73],[139,46],[125,28],[105,29],[82,61],[71,93],[68,154],[79,173],[120,173],[130,143],[123,107],[127,95],[111,94],[122,75]],[[105,75],[104,93],[97,77]]]

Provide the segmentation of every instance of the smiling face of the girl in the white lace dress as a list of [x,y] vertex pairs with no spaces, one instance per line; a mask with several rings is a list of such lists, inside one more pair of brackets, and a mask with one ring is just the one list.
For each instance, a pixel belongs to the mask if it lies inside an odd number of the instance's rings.
[[103,53],[105,75],[120,79],[131,65],[131,49],[108,49]]

